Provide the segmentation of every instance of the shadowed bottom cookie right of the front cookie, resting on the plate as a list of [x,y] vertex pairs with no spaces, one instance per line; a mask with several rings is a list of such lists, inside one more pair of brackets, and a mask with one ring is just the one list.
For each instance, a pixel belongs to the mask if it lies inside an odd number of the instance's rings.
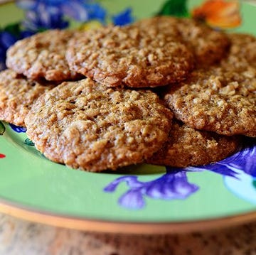
[[147,163],[178,168],[206,165],[234,153],[239,144],[237,136],[198,131],[175,120],[168,141]]

